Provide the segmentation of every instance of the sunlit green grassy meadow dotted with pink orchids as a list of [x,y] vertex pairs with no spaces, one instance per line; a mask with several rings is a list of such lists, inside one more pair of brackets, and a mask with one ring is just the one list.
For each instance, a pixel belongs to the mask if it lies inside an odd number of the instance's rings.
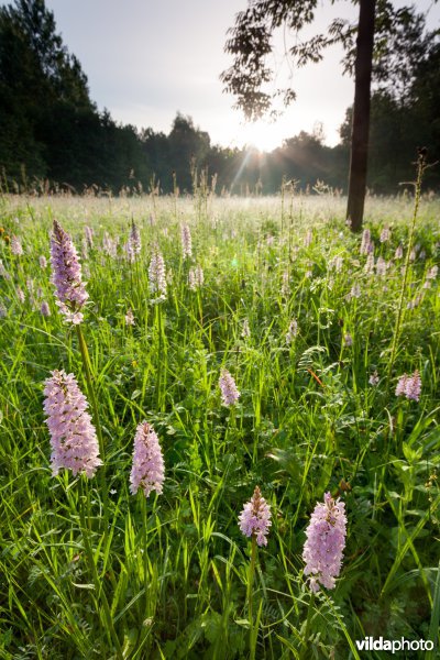
[[[367,636],[438,657],[440,204],[414,206],[370,197],[353,234],[331,195],[0,199],[1,658],[384,658]],[[78,326],[51,283],[54,219],[80,255]],[[99,425],[91,479],[53,475],[54,370]],[[165,465],[148,497],[130,490],[144,420]],[[255,486],[266,546],[239,527]],[[314,593],[326,493],[346,543]]]

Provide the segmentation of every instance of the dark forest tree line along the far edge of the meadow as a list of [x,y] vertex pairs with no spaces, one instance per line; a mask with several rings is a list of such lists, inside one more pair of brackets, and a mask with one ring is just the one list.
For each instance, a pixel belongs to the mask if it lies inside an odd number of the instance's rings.
[[[400,67],[405,77],[376,88],[372,96],[369,187],[395,194],[414,179],[416,148],[427,146],[440,160],[439,32],[427,33],[414,14]],[[405,57],[404,57],[405,56]],[[146,118],[147,121],[147,118]],[[317,180],[346,190],[351,109],[340,143],[324,144],[319,125],[301,131],[278,148],[255,150],[211,144],[190,117],[177,112],[168,134],[116,122],[90,99],[80,63],[56,32],[44,0],[15,0],[0,8],[0,168],[1,188],[33,189],[48,182],[85,189],[190,193],[208,173],[217,193],[270,195],[283,180],[312,188]],[[440,166],[427,170],[437,188]],[[41,184],[38,184],[41,186]]]

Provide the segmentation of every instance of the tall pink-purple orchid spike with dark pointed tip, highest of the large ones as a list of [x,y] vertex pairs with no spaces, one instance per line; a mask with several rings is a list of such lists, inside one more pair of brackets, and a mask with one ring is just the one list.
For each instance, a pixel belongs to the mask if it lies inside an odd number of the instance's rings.
[[70,237],[54,220],[51,239],[52,284],[56,287],[57,305],[67,321],[80,323],[84,315],[79,311],[88,299],[81,282],[81,266]]

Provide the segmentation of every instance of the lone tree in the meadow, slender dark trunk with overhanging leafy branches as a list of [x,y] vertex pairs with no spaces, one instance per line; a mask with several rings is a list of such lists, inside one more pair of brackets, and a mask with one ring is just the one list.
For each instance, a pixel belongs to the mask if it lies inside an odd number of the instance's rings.
[[[297,66],[304,66],[321,61],[324,48],[332,44],[341,43],[346,52],[344,70],[354,72],[355,78],[348,218],[351,228],[359,231],[366,189],[372,75],[384,80],[398,70],[402,59],[398,61],[396,53],[408,25],[414,28],[415,13],[411,8],[394,9],[389,0],[352,1],[360,6],[356,24],[336,19],[326,34],[295,43],[289,55]],[[267,112],[275,97],[282,96],[286,105],[295,100],[292,88],[277,89],[273,94],[265,91],[265,86],[274,78],[274,72],[267,66],[267,56],[273,51],[271,40],[278,28],[300,32],[314,21],[317,7],[318,0],[252,0],[245,11],[238,13],[235,25],[230,30],[231,38],[226,44],[226,51],[234,56],[234,62],[221,74],[221,79],[226,90],[237,97],[237,107],[248,119]],[[374,66],[374,52],[378,55],[377,66]]]

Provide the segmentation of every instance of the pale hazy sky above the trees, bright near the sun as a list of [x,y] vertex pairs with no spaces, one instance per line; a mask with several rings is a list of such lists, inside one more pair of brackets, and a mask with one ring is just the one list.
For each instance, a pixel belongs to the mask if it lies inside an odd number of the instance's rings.
[[[419,11],[431,4],[416,2]],[[119,122],[168,133],[179,111],[208,131],[212,144],[253,144],[262,151],[321,122],[326,143],[337,144],[354,94],[353,80],[342,76],[339,46],[322,63],[290,72],[284,51],[294,37],[279,34],[270,64],[278,86],[292,75],[297,100],[275,123],[248,124],[233,109],[234,98],[223,92],[219,76],[232,64],[223,52],[227,30],[246,6],[246,0],[46,0],[57,32],[88,77],[90,98]],[[351,2],[318,1],[319,19],[309,34],[324,32],[336,16],[355,20],[356,12]],[[438,26],[440,3],[429,16],[430,28]]]

